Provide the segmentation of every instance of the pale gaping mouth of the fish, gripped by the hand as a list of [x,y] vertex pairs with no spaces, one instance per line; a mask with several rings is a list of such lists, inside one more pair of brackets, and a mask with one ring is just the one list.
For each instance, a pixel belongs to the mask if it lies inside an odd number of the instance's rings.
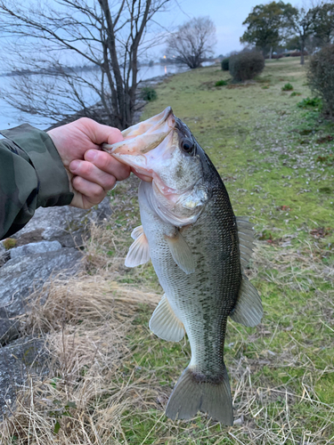
[[144,174],[159,182],[153,165],[158,158],[160,161],[166,160],[174,150],[175,124],[173,110],[167,107],[159,115],[124,130],[124,141],[111,145],[102,144],[102,150],[131,166],[135,173]]

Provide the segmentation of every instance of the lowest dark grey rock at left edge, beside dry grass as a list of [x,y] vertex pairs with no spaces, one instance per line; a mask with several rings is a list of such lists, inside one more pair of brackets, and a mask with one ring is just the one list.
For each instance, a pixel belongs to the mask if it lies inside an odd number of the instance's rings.
[[16,400],[16,392],[27,376],[41,375],[46,370],[43,344],[40,339],[26,337],[0,347],[0,419]]

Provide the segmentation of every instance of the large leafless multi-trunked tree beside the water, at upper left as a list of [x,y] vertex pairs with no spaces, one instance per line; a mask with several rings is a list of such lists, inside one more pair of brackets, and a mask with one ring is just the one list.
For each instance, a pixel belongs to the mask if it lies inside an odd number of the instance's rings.
[[[0,0],[0,34],[11,46],[6,64],[16,74],[4,99],[57,121],[80,110],[126,128],[134,116],[138,56],[159,43],[161,33],[153,36],[148,27],[168,1]],[[103,118],[92,108],[96,101]]]

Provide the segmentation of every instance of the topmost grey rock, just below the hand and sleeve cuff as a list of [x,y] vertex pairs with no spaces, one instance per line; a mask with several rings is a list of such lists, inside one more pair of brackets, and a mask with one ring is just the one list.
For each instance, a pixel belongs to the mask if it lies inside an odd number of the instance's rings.
[[57,240],[63,247],[81,247],[83,239],[88,236],[87,223],[102,221],[109,218],[111,213],[108,197],[90,210],[70,206],[39,207],[29,223],[14,236],[18,246],[44,239]]

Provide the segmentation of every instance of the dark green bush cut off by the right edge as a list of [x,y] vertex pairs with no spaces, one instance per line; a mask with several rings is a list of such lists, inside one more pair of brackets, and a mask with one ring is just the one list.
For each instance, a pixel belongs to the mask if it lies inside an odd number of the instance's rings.
[[334,116],[334,44],[311,57],[307,79],[311,90],[322,98],[322,112]]

